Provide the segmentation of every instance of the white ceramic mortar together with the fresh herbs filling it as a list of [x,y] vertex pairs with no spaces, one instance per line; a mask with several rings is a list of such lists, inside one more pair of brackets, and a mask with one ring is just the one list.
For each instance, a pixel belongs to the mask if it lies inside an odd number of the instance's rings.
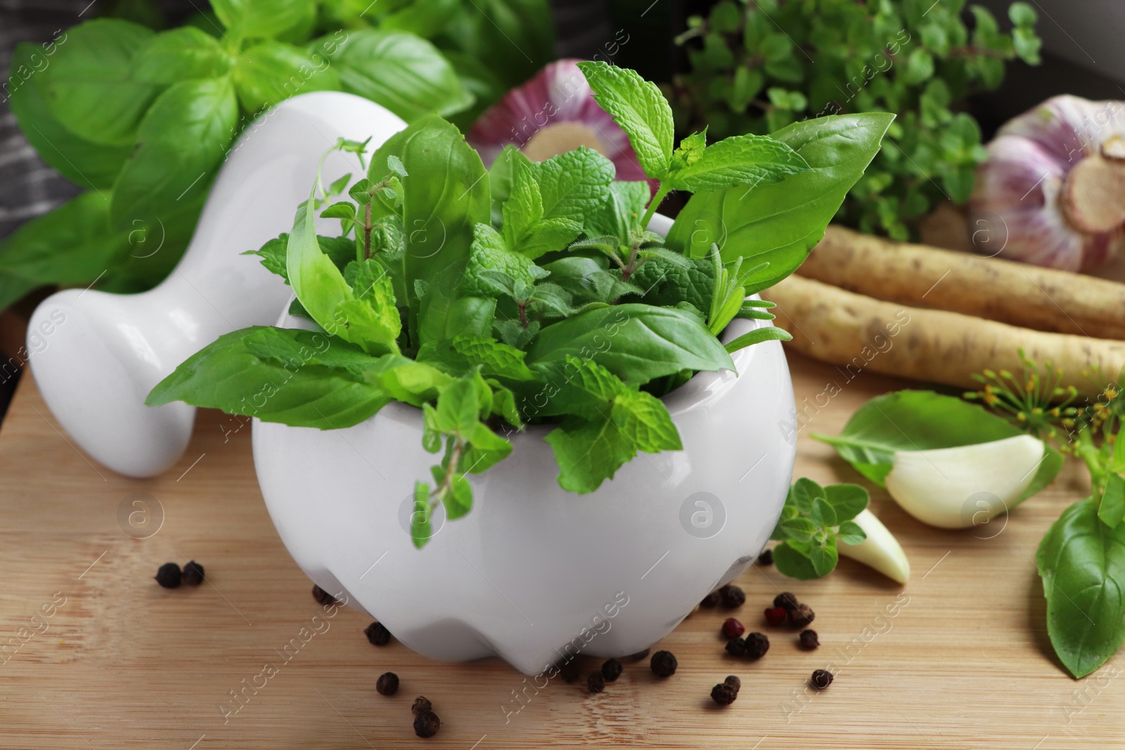
[[[892,120],[675,147],[656,85],[580,67],[655,197],[586,148],[486,171],[420,119],[258,251],[296,297],[280,325],[222,336],[147,401],[255,418],[262,494],[320,586],[423,653],[528,674],[647,648],[765,544],[795,444],[788,334],[755,292]],[[694,193],[691,225],[656,220],[670,190]]]

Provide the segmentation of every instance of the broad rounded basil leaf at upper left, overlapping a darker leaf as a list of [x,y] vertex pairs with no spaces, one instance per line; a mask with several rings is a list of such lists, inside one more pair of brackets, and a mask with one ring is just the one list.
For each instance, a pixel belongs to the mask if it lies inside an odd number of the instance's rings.
[[99,18],[66,31],[43,71],[47,108],[86,141],[132,145],[137,125],[159,87],[137,80],[133,57],[154,36],[151,29]]

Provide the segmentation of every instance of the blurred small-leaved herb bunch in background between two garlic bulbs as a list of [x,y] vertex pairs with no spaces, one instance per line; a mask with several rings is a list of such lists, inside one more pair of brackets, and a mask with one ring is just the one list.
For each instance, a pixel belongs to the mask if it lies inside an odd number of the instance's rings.
[[968,94],[994,89],[1006,62],[1040,61],[1036,12],[1014,2],[1010,34],[964,0],[721,0],[678,37],[691,72],[669,87],[682,132],[767,133],[828,114],[891,111],[884,148],[840,220],[907,240],[944,198],[964,202],[986,157]]

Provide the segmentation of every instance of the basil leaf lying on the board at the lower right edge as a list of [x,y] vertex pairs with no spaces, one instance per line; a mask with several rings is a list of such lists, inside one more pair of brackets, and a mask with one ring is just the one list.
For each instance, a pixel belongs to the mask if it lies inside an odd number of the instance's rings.
[[1084,677],[1125,642],[1125,525],[1101,523],[1088,497],[1063,510],[1036,561],[1051,643],[1066,669]]

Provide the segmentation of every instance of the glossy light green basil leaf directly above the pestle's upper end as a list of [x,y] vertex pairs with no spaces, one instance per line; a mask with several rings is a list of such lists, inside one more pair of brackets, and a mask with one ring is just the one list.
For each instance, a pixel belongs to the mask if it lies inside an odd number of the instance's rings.
[[452,115],[472,103],[453,66],[431,43],[403,31],[349,31],[342,43],[324,38],[312,48],[326,55],[344,91],[382,105],[406,121]]

